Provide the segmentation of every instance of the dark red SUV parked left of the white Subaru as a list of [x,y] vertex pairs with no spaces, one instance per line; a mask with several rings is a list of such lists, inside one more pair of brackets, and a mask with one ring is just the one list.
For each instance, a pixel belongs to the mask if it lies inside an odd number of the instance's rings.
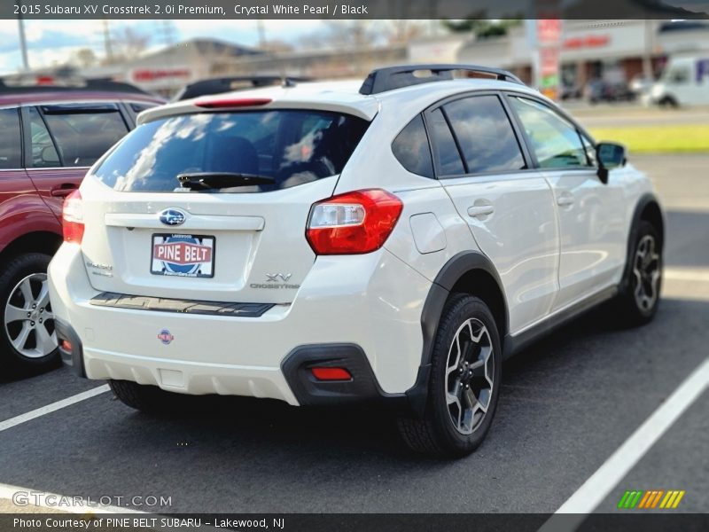
[[0,80],[0,373],[56,364],[46,271],[63,199],[137,113],[160,103],[124,83]]

